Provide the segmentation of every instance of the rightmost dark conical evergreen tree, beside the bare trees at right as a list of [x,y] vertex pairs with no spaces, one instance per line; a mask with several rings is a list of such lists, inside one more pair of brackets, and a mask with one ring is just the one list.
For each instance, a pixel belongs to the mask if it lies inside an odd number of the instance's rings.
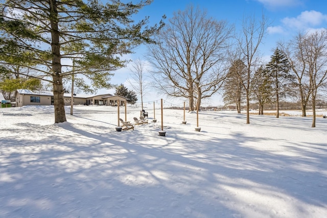
[[275,49],[271,56],[270,62],[266,65],[272,79],[272,86],[275,94],[275,102],[277,107],[276,118],[279,117],[279,100],[284,98],[288,93],[288,88],[291,85],[294,77],[290,74],[290,65],[285,54],[278,49]]

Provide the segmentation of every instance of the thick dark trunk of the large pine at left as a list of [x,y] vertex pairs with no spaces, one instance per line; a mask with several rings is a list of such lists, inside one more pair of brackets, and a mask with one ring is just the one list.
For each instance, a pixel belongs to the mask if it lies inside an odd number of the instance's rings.
[[56,0],[50,0],[51,50],[53,70],[53,95],[55,107],[55,123],[66,122],[65,103],[63,100],[63,86],[61,77],[61,56],[58,31],[58,11]]

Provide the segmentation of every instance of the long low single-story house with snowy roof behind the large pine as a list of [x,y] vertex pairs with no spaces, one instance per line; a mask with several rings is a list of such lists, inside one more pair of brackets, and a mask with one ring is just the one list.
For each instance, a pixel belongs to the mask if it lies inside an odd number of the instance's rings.
[[[52,91],[31,91],[28,89],[18,89],[15,93],[16,106],[25,105],[53,105],[54,96]],[[66,106],[71,105],[71,93],[63,94]],[[119,101],[120,106],[124,106],[126,98],[121,95],[112,94],[74,94],[74,105],[108,105],[117,106]]]

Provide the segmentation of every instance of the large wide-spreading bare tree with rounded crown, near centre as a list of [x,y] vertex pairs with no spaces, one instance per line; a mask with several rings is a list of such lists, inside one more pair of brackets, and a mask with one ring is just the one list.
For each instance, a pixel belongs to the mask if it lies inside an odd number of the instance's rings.
[[189,99],[190,111],[216,93],[226,74],[231,31],[226,21],[208,18],[199,8],[174,13],[157,35],[159,43],[149,46],[148,60],[159,91]]

